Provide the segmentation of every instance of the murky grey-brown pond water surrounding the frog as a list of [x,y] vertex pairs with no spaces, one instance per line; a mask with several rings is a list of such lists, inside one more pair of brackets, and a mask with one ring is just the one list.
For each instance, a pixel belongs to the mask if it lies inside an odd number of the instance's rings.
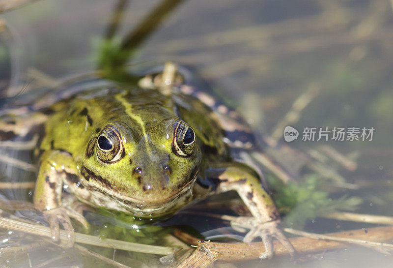
[[[113,40],[121,42],[159,2],[128,2]],[[117,1],[45,0],[1,14],[10,32],[1,33],[0,88],[3,90],[0,96],[14,96],[28,85],[20,97],[12,99],[23,103],[34,99],[37,92],[50,90],[51,85],[65,77],[97,70],[100,60],[103,62],[100,58],[102,40],[110,35],[109,22],[116,4]],[[298,140],[286,144],[282,137],[278,139],[281,144],[304,152],[313,150],[315,153],[321,146],[329,145],[344,155],[358,154],[358,168],[348,171],[336,161],[327,160],[325,164],[350,183],[346,188],[337,187],[336,181],[336,184],[327,183],[319,188],[315,182],[309,182],[315,188],[304,183],[301,189],[295,186],[289,189],[295,193],[308,189],[303,191],[305,196],[314,192],[329,193],[327,198],[333,200],[360,198],[362,204],[357,213],[392,215],[391,39],[392,7],[387,0],[183,1],[151,34],[140,38],[139,46],[127,61],[126,70],[138,74],[162,65],[166,60],[186,66],[212,85],[216,94],[236,107],[258,134],[274,133],[299,96],[307,90],[316,92],[299,114],[299,119],[287,123],[300,132]],[[9,90],[4,91],[5,88]],[[317,138],[302,141],[305,127],[328,127],[329,130],[334,127],[373,127],[375,132],[372,141],[330,139],[324,142],[316,141]],[[7,153],[30,161],[26,152],[7,150]],[[286,156],[284,153],[281,157]],[[318,157],[325,161],[324,156]],[[301,167],[297,169],[299,162],[297,156],[285,158],[288,169],[306,173]],[[2,176],[4,180],[16,178],[22,181],[34,177],[31,172],[9,165],[3,169]],[[358,189],[348,189],[353,185],[358,185]],[[29,200],[31,193],[29,189],[2,190],[1,195],[5,199]],[[274,196],[279,207],[293,205],[280,199],[285,193],[278,191]],[[318,201],[315,201],[316,205],[322,206]],[[292,211],[312,211],[310,203],[297,200]],[[321,217],[299,223],[294,212],[281,212],[286,214],[284,221],[287,224],[296,222],[296,227],[301,226],[309,232],[328,233],[375,226]],[[36,217],[30,212],[17,215]],[[96,221],[97,225],[102,220],[95,214],[91,217],[90,220]],[[37,220],[43,221],[39,217]],[[102,221],[105,224],[106,220]],[[182,225],[195,235],[200,232],[209,237],[220,234],[219,230],[216,233],[212,230],[227,227],[222,221],[206,216],[190,220],[187,213],[169,219],[164,225]],[[21,234],[7,232],[2,233],[4,239],[21,237]],[[17,237],[12,238],[17,240]],[[58,253],[51,250],[30,253],[32,264],[39,264]],[[112,258],[113,252],[108,250],[105,254]],[[83,265],[83,257],[79,254],[72,256],[77,257],[66,258],[67,261],[55,262],[49,267]],[[17,259],[10,263],[10,267],[28,267],[26,255]],[[348,246],[312,255],[301,264],[289,263],[287,258],[274,258],[236,266],[389,267],[391,262],[389,255]]]

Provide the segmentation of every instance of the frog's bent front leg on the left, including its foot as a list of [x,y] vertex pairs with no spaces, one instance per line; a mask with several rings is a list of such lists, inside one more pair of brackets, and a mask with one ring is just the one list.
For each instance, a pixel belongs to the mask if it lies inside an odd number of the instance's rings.
[[70,207],[62,206],[61,195],[63,181],[69,175],[77,175],[76,165],[67,152],[52,150],[44,152],[40,157],[38,177],[34,190],[34,208],[42,211],[52,229],[52,238],[59,240],[59,225],[68,234],[67,246],[73,246],[75,232],[71,218],[81,222],[87,228],[84,216]]

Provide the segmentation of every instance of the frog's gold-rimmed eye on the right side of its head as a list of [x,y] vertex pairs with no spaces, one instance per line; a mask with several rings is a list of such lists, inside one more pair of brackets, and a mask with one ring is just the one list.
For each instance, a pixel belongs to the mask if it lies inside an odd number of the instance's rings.
[[185,122],[178,120],[173,136],[173,151],[179,156],[190,156],[195,147],[194,130]]

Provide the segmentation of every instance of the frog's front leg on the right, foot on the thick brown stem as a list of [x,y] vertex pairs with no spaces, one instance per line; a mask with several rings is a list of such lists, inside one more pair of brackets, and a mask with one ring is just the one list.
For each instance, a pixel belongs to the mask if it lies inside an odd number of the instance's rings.
[[266,251],[261,254],[260,258],[273,256],[273,237],[285,246],[291,256],[294,255],[295,249],[281,230],[277,208],[252,170],[241,164],[229,163],[211,167],[205,175],[218,180],[217,192],[237,191],[250,209],[253,217],[238,217],[231,221],[231,225],[250,229],[244,242],[249,243],[254,238],[262,238]]

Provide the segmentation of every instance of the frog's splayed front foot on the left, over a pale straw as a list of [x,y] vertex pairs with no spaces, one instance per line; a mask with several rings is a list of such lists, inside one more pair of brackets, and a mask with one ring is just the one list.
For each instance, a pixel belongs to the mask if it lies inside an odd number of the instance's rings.
[[84,216],[72,208],[53,208],[43,211],[43,215],[51,226],[52,240],[57,242],[60,239],[60,224],[63,226],[68,236],[66,247],[72,247],[75,243],[75,230],[70,218],[79,221],[85,229],[89,226]]

